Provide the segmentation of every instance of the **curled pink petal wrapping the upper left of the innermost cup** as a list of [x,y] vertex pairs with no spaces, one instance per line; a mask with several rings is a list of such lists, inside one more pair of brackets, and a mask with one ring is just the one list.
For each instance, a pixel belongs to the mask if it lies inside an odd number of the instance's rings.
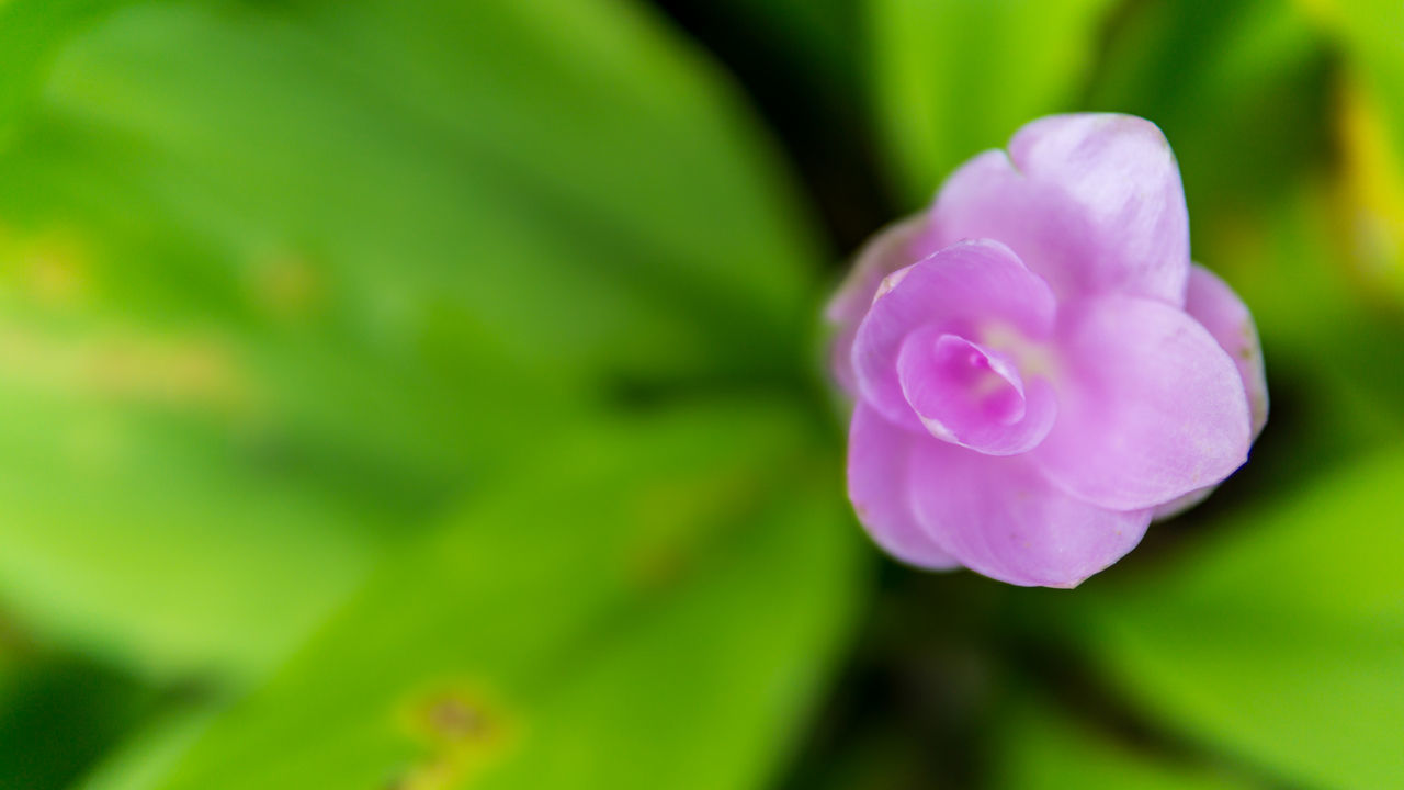
[[889,420],[925,430],[897,378],[897,354],[907,335],[931,326],[969,337],[1007,328],[1045,337],[1054,311],[1047,285],[1004,245],[953,245],[883,280],[854,339],[858,389]]

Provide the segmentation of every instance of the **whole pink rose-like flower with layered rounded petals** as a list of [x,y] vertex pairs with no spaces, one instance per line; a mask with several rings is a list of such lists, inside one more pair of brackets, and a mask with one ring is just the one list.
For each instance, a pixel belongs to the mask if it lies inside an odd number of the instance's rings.
[[830,304],[848,493],[904,562],[1074,586],[1237,470],[1266,420],[1247,308],[1189,260],[1160,129],[1057,115],[956,170]]

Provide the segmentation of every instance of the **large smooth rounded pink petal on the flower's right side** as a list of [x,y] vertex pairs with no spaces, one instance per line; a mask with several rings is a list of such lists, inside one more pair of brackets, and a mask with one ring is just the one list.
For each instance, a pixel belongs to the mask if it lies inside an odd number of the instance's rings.
[[1248,399],[1228,354],[1170,305],[1063,305],[1059,419],[1033,457],[1080,499],[1153,507],[1216,485],[1248,457]]

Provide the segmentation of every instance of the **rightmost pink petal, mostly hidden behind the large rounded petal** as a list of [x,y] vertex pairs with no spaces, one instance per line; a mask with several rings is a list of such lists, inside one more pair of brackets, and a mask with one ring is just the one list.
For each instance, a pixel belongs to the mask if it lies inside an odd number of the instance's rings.
[[[1258,343],[1258,329],[1252,323],[1252,315],[1227,283],[1202,266],[1195,266],[1189,271],[1185,312],[1214,336],[1238,367],[1252,416],[1252,440],[1257,440],[1262,426],[1268,423],[1268,380],[1262,370],[1262,346]],[[1214,486],[1206,486],[1161,505],[1155,509],[1155,517],[1168,519],[1188,510],[1213,489]]]

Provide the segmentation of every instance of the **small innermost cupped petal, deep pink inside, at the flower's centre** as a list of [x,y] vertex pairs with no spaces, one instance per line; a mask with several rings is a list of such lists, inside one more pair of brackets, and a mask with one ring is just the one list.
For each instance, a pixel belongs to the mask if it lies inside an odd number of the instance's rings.
[[938,439],[991,455],[1025,453],[1047,436],[1057,415],[1053,389],[1024,378],[1002,354],[927,326],[897,354],[907,403]]

